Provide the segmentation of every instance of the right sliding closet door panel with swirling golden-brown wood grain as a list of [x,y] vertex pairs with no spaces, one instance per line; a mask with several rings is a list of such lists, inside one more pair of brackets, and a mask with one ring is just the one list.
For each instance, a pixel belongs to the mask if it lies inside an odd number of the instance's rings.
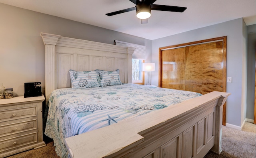
[[185,90],[202,94],[223,91],[222,45],[218,41],[186,47]]

